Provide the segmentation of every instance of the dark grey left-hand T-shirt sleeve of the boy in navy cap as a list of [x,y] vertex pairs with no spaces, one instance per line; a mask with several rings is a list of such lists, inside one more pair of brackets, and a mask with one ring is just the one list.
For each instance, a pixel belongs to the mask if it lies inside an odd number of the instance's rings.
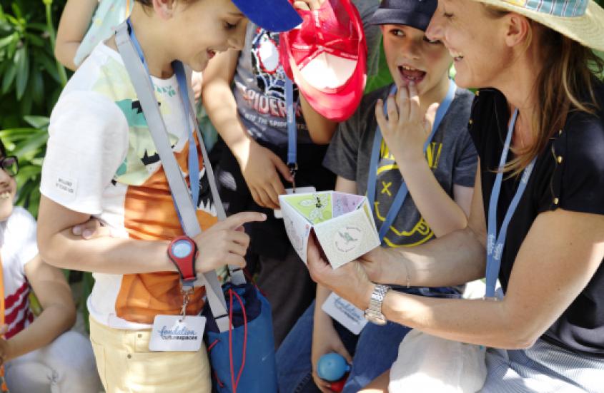
[[323,166],[347,180],[357,180],[357,157],[359,150],[360,130],[359,112],[340,123],[327,148]]

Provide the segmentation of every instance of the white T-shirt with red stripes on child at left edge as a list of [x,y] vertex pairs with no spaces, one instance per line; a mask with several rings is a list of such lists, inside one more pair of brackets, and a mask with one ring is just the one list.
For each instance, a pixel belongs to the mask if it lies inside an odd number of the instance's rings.
[[4,323],[6,338],[21,332],[34,320],[29,310],[29,282],[25,265],[38,255],[36,220],[24,208],[15,206],[6,221],[0,223],[0,255],[4,278]]

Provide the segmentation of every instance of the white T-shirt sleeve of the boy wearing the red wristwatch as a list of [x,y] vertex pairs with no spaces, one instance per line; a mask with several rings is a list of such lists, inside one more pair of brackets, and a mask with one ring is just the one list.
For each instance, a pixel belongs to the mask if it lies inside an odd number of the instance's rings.
[[61,97],[51,114],[41,193],[69,210],[100,214],[103,191],[126,158],[128,133],[124,114],[106,96]]

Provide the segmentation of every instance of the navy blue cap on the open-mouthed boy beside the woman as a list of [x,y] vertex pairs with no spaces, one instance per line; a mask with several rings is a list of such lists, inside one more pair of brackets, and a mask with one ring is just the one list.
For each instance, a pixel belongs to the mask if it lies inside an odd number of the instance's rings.
[[437,5],[437,0],[382,0],[369,23],[404,24],[426,31]]

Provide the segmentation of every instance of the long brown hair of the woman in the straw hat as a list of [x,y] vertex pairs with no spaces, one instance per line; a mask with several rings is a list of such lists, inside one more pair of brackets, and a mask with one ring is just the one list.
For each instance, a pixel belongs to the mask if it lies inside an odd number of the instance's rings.
[[[492,18],[500,18],[508,11],[503,11],[483,4],[485,11]],[[598,76],[603,75],[604,60],[590,48],[558,33],[553,29],[530,20],[529,34],[525,48],[530,46],[535,32],[538,31],[540,56],[543,59],[535,93],[537,111],[532,120],[533,141],[530,146],[516,150],[516,157],[505,165],[505,172],[518,175],[539,155],[548,140],[564,128],[568,114],[582,111],[594,114],[600,106],[593,90]],[[587,94],[586,94],[587,92]]]

